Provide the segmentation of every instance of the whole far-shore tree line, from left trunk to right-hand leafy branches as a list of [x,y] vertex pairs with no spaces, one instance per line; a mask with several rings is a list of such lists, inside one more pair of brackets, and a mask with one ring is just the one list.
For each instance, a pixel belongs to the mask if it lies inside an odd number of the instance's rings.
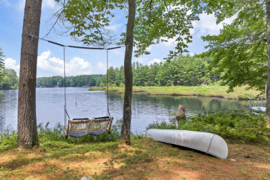
[[[134,86],[199,86],[210,84],[220,78],[220,74],[213,75],[208,69],[210,57],[199,55],[179,55],[174,60],[166,62],[154,62],[143,65],[133,62]],[[124,66],[108,69],[109,85],[120,87],[125,85]],[[101,82],[101,84],[100,84]],[[104,86],[107,83],[107,75],[78,75],[66,77],[66,87],[94,87]],[[37,87],[64,87],[62,76],[37,78]]]

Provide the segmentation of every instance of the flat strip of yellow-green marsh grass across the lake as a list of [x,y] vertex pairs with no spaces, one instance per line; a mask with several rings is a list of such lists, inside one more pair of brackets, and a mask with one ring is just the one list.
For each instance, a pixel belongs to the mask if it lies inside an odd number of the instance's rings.
[[[106,87],[92,87],[91,91],[107,90]],[[260,91],[249,90],[246,87],[237,87],[235,91],[227,93],[227,86],[202,85],[199,87],[133,87],[133,92],[145,92],[152,95],[172,95],[172,96],[206,96],[229,99],[253,99]],[[125,92],[125,87],[109,87],[109,91]],[[262,96],[263,97],[263,96]]]

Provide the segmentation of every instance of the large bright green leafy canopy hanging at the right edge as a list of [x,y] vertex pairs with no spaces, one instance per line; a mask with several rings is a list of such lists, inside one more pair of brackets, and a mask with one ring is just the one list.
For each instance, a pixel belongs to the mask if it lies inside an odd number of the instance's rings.
[[219,35],[202,37],[209,44],[206,56],[214,60],[209,68],[224,73],[221,79],[229,91],[241,84],[264,91],[267,84],[267,17],[264,0],[218,1],[209,5],[217,23],[233,17],[232,24],[225,24]]

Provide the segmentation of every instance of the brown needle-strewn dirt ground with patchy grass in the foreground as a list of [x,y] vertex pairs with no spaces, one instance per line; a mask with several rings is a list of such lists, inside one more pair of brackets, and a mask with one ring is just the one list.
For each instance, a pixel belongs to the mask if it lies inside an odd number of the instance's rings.
[[270,145],[228,143],[225,160],[150,138],[42,148],[2,152],[0,179],[270,179]]

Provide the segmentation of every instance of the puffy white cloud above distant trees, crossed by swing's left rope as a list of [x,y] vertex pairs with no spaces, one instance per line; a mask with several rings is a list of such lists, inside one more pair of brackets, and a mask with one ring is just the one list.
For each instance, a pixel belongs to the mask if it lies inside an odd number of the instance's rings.
[[[50,57],[51,51],[44,51],[37,57],[37,68],[51,75],[63,75],[64,61],[57,57]],[[73,57],[71,62],[66,63],[66,75],[91,74],[92,65],[80,57]]]

